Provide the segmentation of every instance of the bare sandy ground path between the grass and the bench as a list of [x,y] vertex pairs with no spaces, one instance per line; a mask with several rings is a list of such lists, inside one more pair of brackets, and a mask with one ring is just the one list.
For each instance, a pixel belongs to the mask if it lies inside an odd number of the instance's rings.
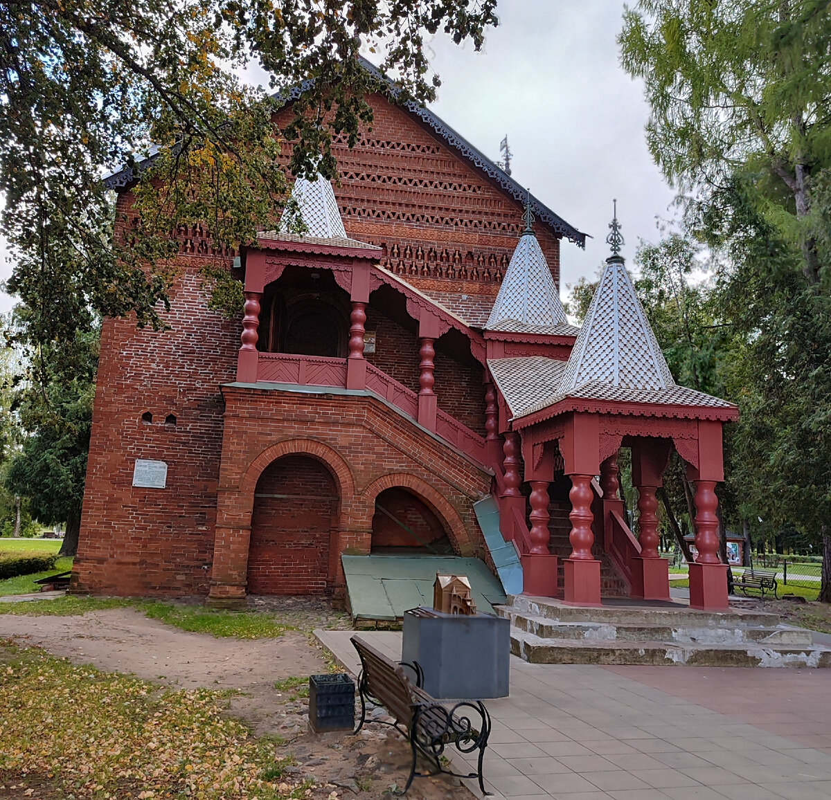
[[[292,753],[293,780],[314,778],[314,798],[378,800],[392,783],[403,786],[410,748],[391,729],[370,724],[358,736],[311,734],[303,699],[279,694],[275,680],[326,672],[322,650],[305,634],[288,632],[278,639],[217,639],[188,633],[131,609],[93,611],[84,616],[0,616],[0,638],[37,645],[76,664],[133,673],[145,680],[180,688],[241,690],[230,699],[229,714],[251,725],[254,733],[279,734],[287,744],[276,757]],[[27,784],[32,786],[33,784]],[[57,797],[38,788],[42,798]],[[5,793],[0,798],[24,797]],[[28,795],[27,797],[32,797]],[[472,800],[453,778],[416,778],[406,795],[411,800]]]

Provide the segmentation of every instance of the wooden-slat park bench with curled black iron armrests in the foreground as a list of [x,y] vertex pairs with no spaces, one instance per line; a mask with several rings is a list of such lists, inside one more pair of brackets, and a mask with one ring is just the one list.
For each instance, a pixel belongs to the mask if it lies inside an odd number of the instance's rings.
[[[352,644],[361,658],[361,675],[358,676],[361,721],[355,733],[361,730],[366,721],[366,707],[369,704],[385,708],[395,721],[384,724],[391,725],[410,742],[410,775],[400,794],[406,793],[416,776],[426,777],[440,772],[455,778],[479,778],[479,788],[485,793],[482,759],[484,748],[488,746],[490,715],[481,700],[442,703],[421,688],[424,676],[418,663],[396,663],[358,636],[352,636]],[[407,677],[405,667],[414,673],[415,685]],[[460,753],[479,750],[478,769],[475,773],[460,775],[443,767],[445,748],[450,743]],[[430,763],[430,772],[416,772],[419,753]]]

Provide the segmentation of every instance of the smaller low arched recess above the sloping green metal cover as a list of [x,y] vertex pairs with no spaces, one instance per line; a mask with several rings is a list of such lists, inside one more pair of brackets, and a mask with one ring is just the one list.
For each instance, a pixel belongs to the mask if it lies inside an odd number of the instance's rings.
[[373,553],[425,552],[453,555],[444,524],[422,499],[406,488],[385,489],[372,515]]

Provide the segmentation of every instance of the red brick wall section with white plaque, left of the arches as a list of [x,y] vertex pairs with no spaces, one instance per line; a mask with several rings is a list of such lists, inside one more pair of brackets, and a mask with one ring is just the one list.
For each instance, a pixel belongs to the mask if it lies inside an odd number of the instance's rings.
[[[76,584],[121,595],[208,591],[224,400],[238,325],[209,312],[194,264],[165,314],[169,331],[106,320],[101,331]],[[153,421],[141,417],[149,411]],[[165,418],[175,415],[175,425]],[[135,459],[169,464],[167,488],[132,486]]]

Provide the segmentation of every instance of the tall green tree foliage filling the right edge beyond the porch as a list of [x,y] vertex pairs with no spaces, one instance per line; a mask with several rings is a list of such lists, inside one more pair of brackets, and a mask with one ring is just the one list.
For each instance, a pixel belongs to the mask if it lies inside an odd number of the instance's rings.
[[831,601],[831,3],[642,0],[620,43],[652,155],[720,258],[741,501],[823,543]]

